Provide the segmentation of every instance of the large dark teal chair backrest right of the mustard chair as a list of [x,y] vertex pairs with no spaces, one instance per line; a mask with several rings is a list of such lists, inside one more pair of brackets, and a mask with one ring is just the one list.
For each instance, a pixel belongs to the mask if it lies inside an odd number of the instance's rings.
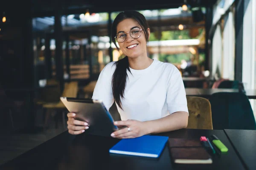
[[209,99],[213,129],[256,130],[253,110],[248,97],[239,92],[218,92]]

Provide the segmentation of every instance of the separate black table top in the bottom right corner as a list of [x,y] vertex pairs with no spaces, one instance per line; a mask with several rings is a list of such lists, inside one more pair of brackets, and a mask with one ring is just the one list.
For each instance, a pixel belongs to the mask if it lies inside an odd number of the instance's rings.
[[256,170],[256,130],[225,129],[225,133],[250,170]]

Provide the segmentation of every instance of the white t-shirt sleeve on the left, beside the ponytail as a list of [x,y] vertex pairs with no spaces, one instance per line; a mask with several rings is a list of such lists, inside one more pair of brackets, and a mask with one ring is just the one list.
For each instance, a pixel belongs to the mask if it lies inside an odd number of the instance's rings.
[[114,102],[111,86],[113,67],[113,62],[110,62],[100,72],[92,97],[92,99],[102,100],[107,110]]

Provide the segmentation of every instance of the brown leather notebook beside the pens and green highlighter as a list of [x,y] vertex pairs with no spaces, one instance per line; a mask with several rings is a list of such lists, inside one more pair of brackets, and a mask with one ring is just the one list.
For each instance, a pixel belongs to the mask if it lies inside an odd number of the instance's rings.
[[171,159],[177,164],[212,164],[212,157],[199,139],[169,138]]

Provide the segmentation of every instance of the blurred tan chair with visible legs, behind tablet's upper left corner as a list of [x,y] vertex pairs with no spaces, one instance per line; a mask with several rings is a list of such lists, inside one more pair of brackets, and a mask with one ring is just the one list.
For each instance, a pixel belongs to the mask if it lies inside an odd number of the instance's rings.
[[[64,85],[64,91],[61,96],[63,97],[76,97],[77,92],[78,92],[78,82],[67,82]],[[67,112],[67,108],[65,105],[61,102],[59,99],[58,102],[53,102],[53,103],[47,103],[43,105],[44,110],[46,110],[46,117],[45,117],[45,123],[44,126],[47,127],[48,125],[48,119],[50,116],[51,111],[61,111],[62,112],[62,123],[63,126],[65,127],[65,114]],[[52,116],[55,116],[54,114]],[[55,120],[55,126],[57,127],[57,122]]]

